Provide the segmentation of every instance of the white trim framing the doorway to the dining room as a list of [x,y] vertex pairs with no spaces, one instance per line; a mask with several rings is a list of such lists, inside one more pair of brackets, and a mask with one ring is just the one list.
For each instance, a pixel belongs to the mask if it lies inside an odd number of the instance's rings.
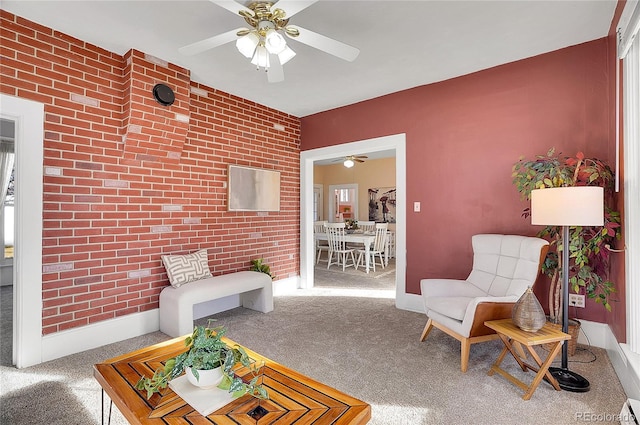
[[347,155],[394,149],[396,152],[396,306],[412,305],[406,293],[407,177],[404,133],[300,152],[300,287],[313,287],[313,163]]

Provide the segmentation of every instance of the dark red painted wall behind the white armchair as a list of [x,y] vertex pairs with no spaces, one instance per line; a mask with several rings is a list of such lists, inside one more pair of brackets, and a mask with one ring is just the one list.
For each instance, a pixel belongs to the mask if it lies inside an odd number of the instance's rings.
[[[422,278],[468,275],[473,234],[539,230],[511,182],[520,156],[555,146],[613,164],[608,52],[599,39],[304,117],[301,149],[406,133],[407,292],[418,294]],[[415,201],[428,208],[412,212]],[[543,304],[547,285],[536,287]]]

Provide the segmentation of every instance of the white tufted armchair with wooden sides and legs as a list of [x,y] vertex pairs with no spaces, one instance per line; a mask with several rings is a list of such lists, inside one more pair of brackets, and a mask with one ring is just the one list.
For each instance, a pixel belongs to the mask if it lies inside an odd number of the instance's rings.
[[497,339],[487,320],[511,317],[518,298],[533,286],[549,243],[516,235],[472,237],[473,270],[466,280],[422,279],[420,289],[428,320],[420,341],[438,328],[460,341],[460,368],[469,366],[471,344]]

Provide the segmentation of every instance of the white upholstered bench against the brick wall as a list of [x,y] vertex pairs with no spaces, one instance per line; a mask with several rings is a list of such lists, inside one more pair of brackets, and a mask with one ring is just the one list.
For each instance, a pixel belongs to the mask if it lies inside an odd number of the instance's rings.
[[171,337],[193,332],[195,304],[240,294],[242,306],[268,313],[273,311],[271,277],[260,272],[236,272],[197,280],[160,292],[160,331]]

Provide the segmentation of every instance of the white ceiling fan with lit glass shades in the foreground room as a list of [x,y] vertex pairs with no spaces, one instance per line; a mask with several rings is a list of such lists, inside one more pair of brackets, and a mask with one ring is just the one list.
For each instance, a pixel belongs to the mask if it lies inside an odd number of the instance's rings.
[[354,61],[360,53],[360,50],[348,44],[306,28],[289,25],[289,18],[318,0],[256,0],[248,3],[246,7],[231,0],[210,1],[240,15],[250,28],[236,28],[189,44],[181,47],[180,53],[196,55],[235,40],[240,53],[251,59],[256,69],[263,68],[267,71],[267,80],[270,83],[284,80],[282,65],[296,55],[287,46],[282,34],[349,62]]

